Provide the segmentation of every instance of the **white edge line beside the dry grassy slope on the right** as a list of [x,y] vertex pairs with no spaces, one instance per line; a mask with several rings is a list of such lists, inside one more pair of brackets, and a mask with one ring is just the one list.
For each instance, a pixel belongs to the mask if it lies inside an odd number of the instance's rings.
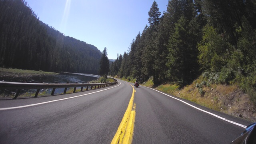
[[[143,87],[146,87],[146,86],[143,86]],[[148,88],[148,87],[146,87],[146,88]],[[150,88],[150,89],[155,90],[155,89],[153,89],[153,88]],[[155,91],[160,92],[160,91],[158,91],[158,90],[155,90]],[[161,93],[161,94],[164,94],[164,95],[166,95],[166,96],[169,96],[168,94],[165,94],[165,93],[163,93],[163,92],[160,92],[160,93]],[[169,97],[174,98],[173,96],[169,96]],[[200,108],[198,108],[198,107],[196,107],[196,106],[193,106],[193,105],[191,105],[191,104],[188,104],[187,102],[184,102],[183,100],[180,100],[180,99],[178,99],[178,98],[174,98],[174,99],[179,100],[180,102],[183,102],[184,104],[187,104],[188,106],[191,106],[191,107],[193,107],[193,108],[196,108],[196,109],[198,109],[198,110],[200,110],[200,111],[202,111],[202,112],[205,112],[205,113],[207,113],[207,114],[210,114],[210,115],[212,115],[212,116],[215,116],[216,118],[220,118],[220,119],[222,119],[222,120],[225,120],[225,121],[230,122],[230,123],[232,123],[232,124],[235,124],[235,125],[237,125],[237,126],[241,126],[242,128],[246,128],[245,125],[238,124],[238,123],[236,123],[236,122],[233,122],[233,121],[228,120],[228,119],[226,119],[226,118],[222,118],[221,116],[218,116],[218,115],[213,114],[213,113],[211,113],[211,112],[208,112],[208,111],[206,111],[206,110],[202,110],[202,109],[200,109]]]

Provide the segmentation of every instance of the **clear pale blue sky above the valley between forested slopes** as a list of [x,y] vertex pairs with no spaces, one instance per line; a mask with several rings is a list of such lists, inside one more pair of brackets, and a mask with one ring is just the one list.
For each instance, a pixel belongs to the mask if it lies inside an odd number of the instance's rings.
[[[154,0],[26,0],[40,20],[65,36],[72,36],[116,59],[148,24]],[[156,0],[166,11],[168,0]]]

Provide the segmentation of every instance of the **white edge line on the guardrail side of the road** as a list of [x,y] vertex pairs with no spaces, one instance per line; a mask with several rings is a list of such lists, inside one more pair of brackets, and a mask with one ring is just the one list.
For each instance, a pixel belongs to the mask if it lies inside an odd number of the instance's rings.
[[[121,82],[118,86],[121,85]],[[117,86],[114,86],[112,88],[115,88]],[[104,89],[104,90],[109,90],[111,88],[107,88],[107,89]],[[97,92],[102,92],[104,90],[99,90]],[[86,95],[89,95],[89,94],[94,94],[96,92],[91,92],[91,93],[88,93],[88,94],[82,94],[82,95],[79,95],[79,96],[73,96],[73,97],[70,97],[70,98],[77,98],[77,97],[80,97],[80,96],[86,96]],[[47,104],[47,103],[50,103],[50,102],[57,102],[57,101],[60,101],[60,100],[67,100],[67,99],[70,99],[70,98],[62,98],[62,99],[59,99],[59,100],[52,100],[52,101],[48,101],[48,102],[40,102],[40,103],[37,103],[37,104],[29,104],[29,105],[25,105],[25,106],[16,106],[16,107],[10,107],[10,108],[0,108],[0,110],[11,110],[11,109],[16,109],[16,108],[26,108],[26,107],[30,107],[30,106],[36,106],[36,105],[40,105],[40,104]]]

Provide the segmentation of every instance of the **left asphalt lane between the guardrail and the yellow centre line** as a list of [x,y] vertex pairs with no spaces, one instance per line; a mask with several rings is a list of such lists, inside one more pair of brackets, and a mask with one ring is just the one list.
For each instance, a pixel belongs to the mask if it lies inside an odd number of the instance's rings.
[[[82,94],[88,95],[71,98]],[[118,83],[75,94],[1,100],[1,108],[53,102],[0,110],[0,143],[110,143],[131,95],[131,86]]]

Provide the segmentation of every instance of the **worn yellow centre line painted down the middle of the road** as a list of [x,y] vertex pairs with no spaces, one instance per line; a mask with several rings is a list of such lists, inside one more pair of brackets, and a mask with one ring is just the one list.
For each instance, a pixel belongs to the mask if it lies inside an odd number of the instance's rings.
[[[132,85],[131,85],[132,86]],[[116,131],[116,134],[111,142],[111,144],[131,144],[134,132],[134,122],[135,122],[135,109],[136,104],[133,104],[134,100],[134,87],[132,86],[132,97],[124,113],[124,117]],[[132,107],[133,105],[133,107]]]

